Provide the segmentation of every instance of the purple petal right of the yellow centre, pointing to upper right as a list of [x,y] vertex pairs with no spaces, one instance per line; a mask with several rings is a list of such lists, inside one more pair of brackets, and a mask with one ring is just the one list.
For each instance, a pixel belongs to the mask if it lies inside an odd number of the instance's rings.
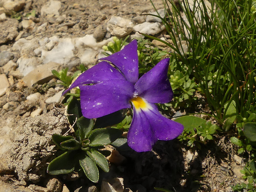
[[151,103],[168,103],[173,98],[173,90],[167,77],[170,59],[161,60],[145,73],[135,84],[135,92]]

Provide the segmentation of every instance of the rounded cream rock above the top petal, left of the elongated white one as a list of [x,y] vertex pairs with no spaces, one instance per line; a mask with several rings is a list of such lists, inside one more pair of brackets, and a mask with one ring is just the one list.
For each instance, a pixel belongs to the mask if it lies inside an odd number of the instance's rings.
[[123,37],[133,31],[133,22],[129,19],[113,16],[107,22],[107,31],[111,35]]

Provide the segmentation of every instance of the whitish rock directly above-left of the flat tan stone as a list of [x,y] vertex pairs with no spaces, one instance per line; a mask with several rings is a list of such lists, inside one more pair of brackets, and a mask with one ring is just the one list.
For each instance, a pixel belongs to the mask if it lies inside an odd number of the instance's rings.
[[26,55],[24,55],[17,60],[17,64],[19,66],[18,70],[20,73],[23,76],[26,76],[28,73],[33,71],[33,69],[42,64],[42,62],[38,57],[27,58]]

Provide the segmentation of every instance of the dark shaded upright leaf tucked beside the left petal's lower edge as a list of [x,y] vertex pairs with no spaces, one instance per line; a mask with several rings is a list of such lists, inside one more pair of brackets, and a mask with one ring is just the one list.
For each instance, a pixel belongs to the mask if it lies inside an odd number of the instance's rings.
[[[68,120],[71,126],[76,122],[76,119],[79,119],[81,116],[83,116],[80,102],[76,98],[73,98],[69,102],[68,108],[67,108],[67,114],[68,114]],[[77,125],[75,124],[73,128],[77,136],[77,130],[78,130]]]

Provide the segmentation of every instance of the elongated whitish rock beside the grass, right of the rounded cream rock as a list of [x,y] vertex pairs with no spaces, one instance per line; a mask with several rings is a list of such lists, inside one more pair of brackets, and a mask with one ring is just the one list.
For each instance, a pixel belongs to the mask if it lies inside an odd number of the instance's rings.
[[149,23],[144,22],[142,24],[137,24],[133,27],[133,31],[139,31],[148,35],[155,35],[160,33],[165,29],[165,26],[160,23]]

